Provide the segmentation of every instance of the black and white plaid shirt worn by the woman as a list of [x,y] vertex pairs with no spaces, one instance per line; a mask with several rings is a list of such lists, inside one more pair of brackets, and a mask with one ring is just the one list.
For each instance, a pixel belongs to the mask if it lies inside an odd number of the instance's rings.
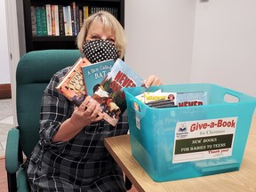
[[126,191],[123,173],[104,147],[104,138],[125,134],[127,116],[116,126],[105,121],[85,126],[67,142],[52,142],[60,124],[69,118],[75,105],[54,87],[68,68],[52,76],[41,107],[40,140],[28,162],[32,191]]

